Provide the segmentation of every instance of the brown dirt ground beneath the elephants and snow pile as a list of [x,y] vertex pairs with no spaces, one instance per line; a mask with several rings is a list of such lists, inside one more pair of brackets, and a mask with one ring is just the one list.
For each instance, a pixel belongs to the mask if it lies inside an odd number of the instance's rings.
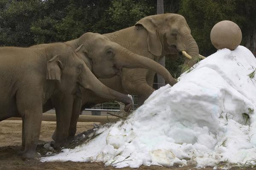
[[[55,129],[55,122],[42,122],[39,145],[50,142]],[[79,122],[77,133],[81,133],[93,127],[93,123]],[[0,122],[0,170],[116,170],[114,167],[105,167],[102,162],[40,162],[39,160],[23,161],[17,152],[21,148],[22,121],[5,120]],[[38,150],[40,152],[40,150]],[[122,170],[131,170],[129,167]],[[160,167],[141,166],[138,170],[196,170],[194,167]],[[240,168],[232,168],[238,170]],[[246,168],[253,170],[254,168]],[[207,167],[205,170],[212,170]],[[255,170],[255,169],[254,169]]]

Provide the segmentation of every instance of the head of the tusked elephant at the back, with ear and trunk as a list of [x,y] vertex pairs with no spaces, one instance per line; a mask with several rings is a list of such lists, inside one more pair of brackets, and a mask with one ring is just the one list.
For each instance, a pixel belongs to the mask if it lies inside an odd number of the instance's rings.
[[[158,14],[144,17],[135,24],[135,29],[145,28],[148,32],[148,51],[155,56],[178,54],[186,57],[184,65],[192,67],[198,61],[198,45],[183,16]],[[186,55],[188,54],[188,55]],[[182,72],[186,68],[182,68]]]

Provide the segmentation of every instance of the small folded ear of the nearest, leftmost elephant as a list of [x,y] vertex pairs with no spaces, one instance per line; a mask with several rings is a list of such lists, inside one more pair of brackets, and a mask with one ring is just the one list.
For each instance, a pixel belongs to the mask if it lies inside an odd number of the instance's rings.
[[60,55],[55,55],[47,62],[46,79],[55,79],[61,82],[61,68],[62,63],[60,60]]

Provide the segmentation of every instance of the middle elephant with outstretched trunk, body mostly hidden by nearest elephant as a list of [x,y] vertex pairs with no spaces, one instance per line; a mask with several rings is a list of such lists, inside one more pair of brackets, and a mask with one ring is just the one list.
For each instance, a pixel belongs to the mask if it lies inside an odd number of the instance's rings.
[[[157,62],[148,59],[143,56],[128,51],[121,45],[111,42],[107,37],[96,33],[85,33],[76,40],[65,42],[68,46],[76,49],[78,56],[87,64],[88,68],[91,69],[93,74],[98,78],[109,78],[115,75],[122,77],[122,68],[146,68],[160,74],[166,82],[174,85],[177,81],[172,77],[172,75]],[[47,46],[50,44],[35,45],[31,48],[38,46]],[[67,143],[68,130],[70,125],[70,119],[73,111],[78,111],[80,113],[81,105],[83,100],[87,101],[87,94],[83,93],[85,89],[81,89],[81,95],[77,94],[73,96],[72,99],[68,98],[70,102],[63,105],[59,100],[58,95],[51,98],[51,101],[44,105],[44,111],[47,111],[53,107],[56,109],[57,115],[57,127],[53,135],[55,144],[53,147],[65,146]],[[98,94],[94,93],[93,95]],[[116,100],[123,102],[120,99],[113,99],[111,96],[105,97],[108,101]],[[123,102],[124,103],[124,102]],[[125,103],[125,111],[130,109],[131,103]],[[73,109],[73,111],[72,111]],[[72,119],[72,121],[76,122]],[[73,116],[74,117],[74,116]],[[72,123],[73,124],[73,123]]]

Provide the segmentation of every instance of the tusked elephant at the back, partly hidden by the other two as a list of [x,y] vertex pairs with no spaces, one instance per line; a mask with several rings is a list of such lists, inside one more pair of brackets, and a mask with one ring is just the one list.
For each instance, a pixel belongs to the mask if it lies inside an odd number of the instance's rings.
[[[104,34],[111,41],[122,45],[135,54],[142,55],[154,61],[159,61],[166,54],[177,58],[180,51],[186,51],[192,59],[185,59],[184,65],[193,66],[198,61],[198,45],[191,35],[191,30],[183,16],[179,14],[159,14],[145,17],[135,26]],[[187,68],[183,67],[182,71]],[[142,68],[123,68],[123,77],[100,79],[109,88],[123,94],[138,95],[139,105],[142,105],[154,91],[153,80],[155,71]],[[171,84],[172,85],[172,84]],[[82,109],[107,102],[91,91],[82,91]],[[76,133],[76,122],[79,117],[79,107],[73,109],[69,136]]]

